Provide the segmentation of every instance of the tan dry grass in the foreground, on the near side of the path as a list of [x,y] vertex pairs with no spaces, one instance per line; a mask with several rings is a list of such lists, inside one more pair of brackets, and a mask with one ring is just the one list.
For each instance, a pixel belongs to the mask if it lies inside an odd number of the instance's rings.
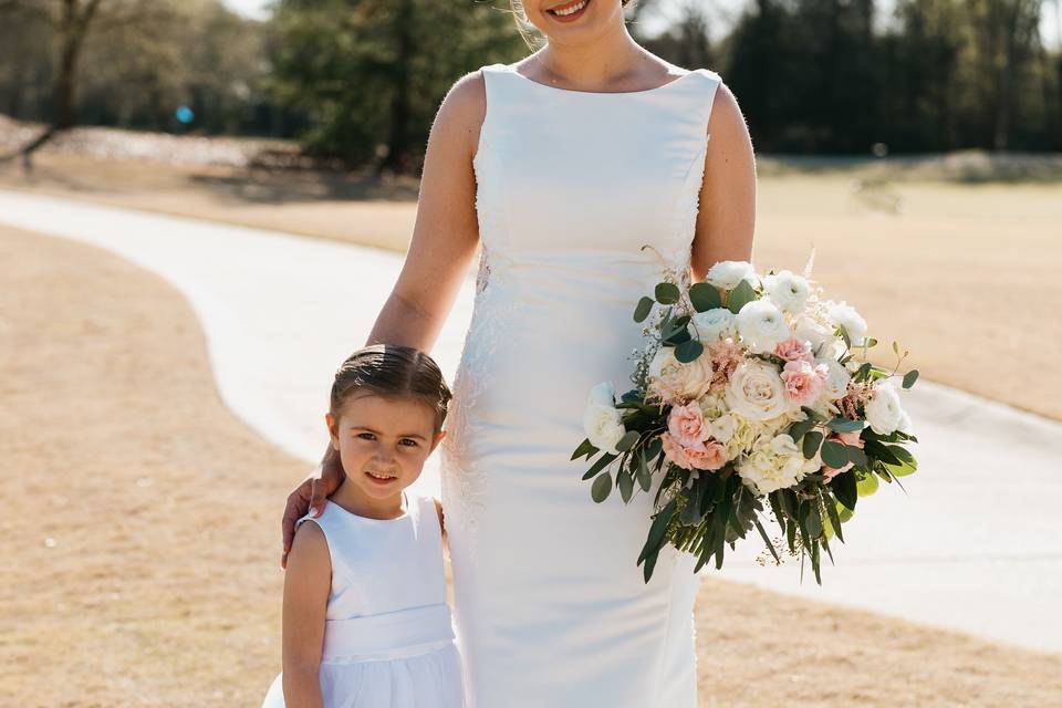
[[[10,229],[0,262],[0,702],[259,705],[304,465],[225,407],[159,278]],[[697,626],[706,707],[1062,705],[1062,656],[711,577]]]

